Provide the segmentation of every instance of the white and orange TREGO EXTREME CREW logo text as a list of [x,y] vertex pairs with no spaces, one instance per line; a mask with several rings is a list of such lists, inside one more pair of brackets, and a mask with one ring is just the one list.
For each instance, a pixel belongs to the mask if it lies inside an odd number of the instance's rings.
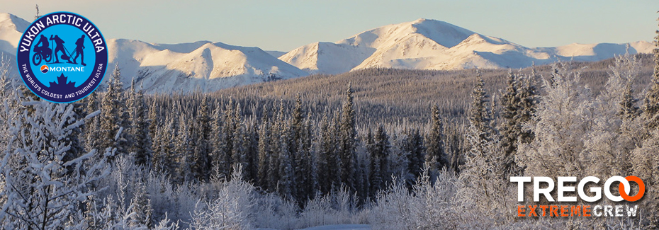
[[[577,196],[566,195],[566,192],[578,194],[579,198],[585,202],[597,202],[602,199],[602,192],[607,199],[612,202],[635,202],[643,197],[646,190],[646,185],[641,178],[636,176],[628,176],[626,178],[621,176],[612,176],[605,183],[604,187],[599,187],[599,178],[594,176],[587,176],[577,183],[577,178],[573,176],[559,176],[554,180],[544,176],[536,176],[531,178],[529,176],[514,176],[510,178],[510,182],[517,182],[517,201],[524,202],[524,183],[533,183],[533,201],[540,202],[540,197],[543,195],[548,202],[577,202]],[[614,195],[611,192],[612,185],[619,182],[617,191],[619,195]],[[631,185],[629,182],[634,182],[638,185],[638,192],[636,195],[630,195]],[[546,184],[545,188],[540,188],[541,183]],[[576,183],[568,185],[569,183]],[[586,194],[586,187],[590,186],[591,195]],[[556,188],[556,200],[551,196],[551,192]],[[615,189],[615,188],[614,188]],[[636,217],[638,205],[633,207],[629,205],[518,205],[518,217]]]

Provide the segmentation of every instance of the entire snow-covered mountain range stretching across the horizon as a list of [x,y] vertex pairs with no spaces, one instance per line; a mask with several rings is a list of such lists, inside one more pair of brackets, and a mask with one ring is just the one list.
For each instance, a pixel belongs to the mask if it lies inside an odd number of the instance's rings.
[[[0,57],[16,62],[16,47],[28,21],[0,13]],[[125,86],[134,78],[148,93],[215,91],[308,74],[340,74],[372,67],[398,69],[520,68],[558,59],[598,61],[629,52],[648,53],[650,42],[572,44],[529,48],[475,33],[443,21],[385,25],[339,42],[315,42],[290,52],[264,51],[221,42],[155,44],[108,39],[111,64],[118,63]],[[109,69],[108,71],[111,71]]]

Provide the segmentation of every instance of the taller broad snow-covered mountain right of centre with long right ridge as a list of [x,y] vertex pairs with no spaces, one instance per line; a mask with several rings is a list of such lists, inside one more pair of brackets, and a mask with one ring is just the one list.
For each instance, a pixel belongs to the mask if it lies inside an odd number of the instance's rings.
[[529,48],[460,28],[443,21],[419,19],[385,25],[351,38],[315,42],[279,59],[310,73],[337,74],[371,67],[398,69],[520,68],[558,59],[598,61],[614,54],[648,53],[650,42],[572,44]]

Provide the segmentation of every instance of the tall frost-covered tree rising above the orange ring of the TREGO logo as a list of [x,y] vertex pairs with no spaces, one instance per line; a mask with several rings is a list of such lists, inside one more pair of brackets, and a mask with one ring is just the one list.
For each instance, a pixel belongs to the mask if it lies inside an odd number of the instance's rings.
[[[629,153],[641,141],[641,124],[637,117],[636,102],[631,90],[639,73],[639,62],[629,53],[616,57],[609,66],[609,79],[592,101],[593,117],[590,133],[584,139],[584,159],[588,175],[629,175]],[[585,156],[585,157],[584,157]],[[588,161],[587,161],[588,162]]]

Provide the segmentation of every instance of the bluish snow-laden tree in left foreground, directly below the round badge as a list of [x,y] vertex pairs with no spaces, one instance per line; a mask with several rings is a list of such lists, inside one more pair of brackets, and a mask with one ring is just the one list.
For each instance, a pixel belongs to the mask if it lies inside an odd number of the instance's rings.
[[[33,113],[28,113],[28,107]],[[94,115],[98,113],[86,118]],[[21,117],[8,130],[15,138],[2,150],[3,229],[76,228],[82,223],[84,217],[76,209],[96,192],[90,190],[91,185],[107,175],[106,157],[114,149],[106,149],[97,158],[92,150],[65,159],[72,151],[72,130],[84,122],[74,117],[73,105],[22,103]]]

